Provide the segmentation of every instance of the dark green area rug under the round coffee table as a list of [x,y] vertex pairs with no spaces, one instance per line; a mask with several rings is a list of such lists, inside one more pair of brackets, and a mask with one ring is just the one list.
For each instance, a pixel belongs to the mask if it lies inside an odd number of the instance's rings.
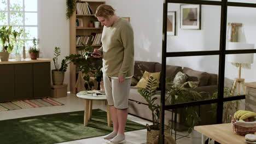
[[[102,136],[113,131],[107,126],[107,113],[92,110],[92,119],[84,127],[84,111],[16,118],[0,121],[0,143],[49,144]],[[127,121],[125,131],[145,129]]]

